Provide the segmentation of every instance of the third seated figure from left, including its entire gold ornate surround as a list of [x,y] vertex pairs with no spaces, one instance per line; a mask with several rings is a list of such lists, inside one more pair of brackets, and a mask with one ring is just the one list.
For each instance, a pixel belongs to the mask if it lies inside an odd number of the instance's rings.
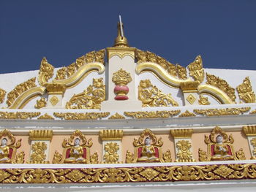
[[151,163],[151,162],[170,162],[170,150],[162,154],[162,139],[152,133],[150,129],[145,129],[139,139],[133,142],[135,153],[127,150],[126,162],[130,163]]

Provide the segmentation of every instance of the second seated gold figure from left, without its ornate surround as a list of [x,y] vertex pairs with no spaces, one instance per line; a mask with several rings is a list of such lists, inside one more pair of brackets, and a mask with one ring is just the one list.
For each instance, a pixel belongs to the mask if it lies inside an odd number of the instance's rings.
[[67,151],[66,164],[86,164],[86,149],[80,146],[80,139],[75,139],[75,145]]

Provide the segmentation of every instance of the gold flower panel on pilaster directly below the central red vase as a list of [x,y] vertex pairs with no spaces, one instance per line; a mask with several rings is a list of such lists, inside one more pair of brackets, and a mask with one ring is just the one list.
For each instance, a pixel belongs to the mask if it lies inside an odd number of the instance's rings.
[[116,142],[108,142],[104,145],[105,154],[103,159],[106,164],[116,164],[118,163],[119,155],[117,154],[119,146]]

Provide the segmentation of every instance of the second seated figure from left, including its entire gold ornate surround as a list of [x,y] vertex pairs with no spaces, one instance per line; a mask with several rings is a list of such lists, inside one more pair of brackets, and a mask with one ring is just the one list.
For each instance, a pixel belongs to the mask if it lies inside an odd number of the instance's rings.
[[69,137],[64,139],[63,155],[57,151],[53,157],[53,164],[97,164],[98,154],[90,156],[91,139],[87,141],[86,136],[81,131],[76,130]]

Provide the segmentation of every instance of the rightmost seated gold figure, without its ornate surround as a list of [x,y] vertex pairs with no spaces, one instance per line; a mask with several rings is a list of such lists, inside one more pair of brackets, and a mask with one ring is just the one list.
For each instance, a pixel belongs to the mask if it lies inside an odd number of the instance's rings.
[[[230,147],[223,143],[222,135],[216,137],[216,145],[214,145],[214,155],[211,160],[232,160],[234,159],[230,151]],[[230,153],[230,154],[229,154]]]

